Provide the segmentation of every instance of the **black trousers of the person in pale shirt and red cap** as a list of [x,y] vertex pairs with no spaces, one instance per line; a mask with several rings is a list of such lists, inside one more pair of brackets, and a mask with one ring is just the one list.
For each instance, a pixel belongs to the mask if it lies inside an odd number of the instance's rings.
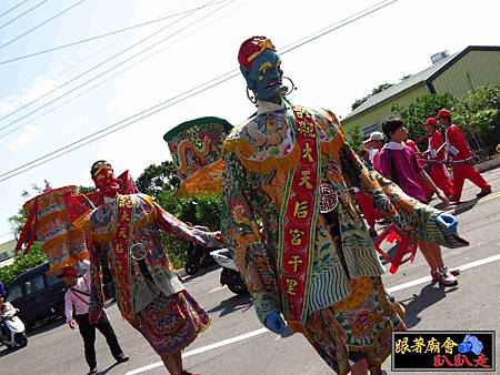
[[80,330],[80,335],[83,337],[83,345],[86,349],[86,361],[90,368],[97,367],[96,361],[96,328],[99,330],[106,337],[106,341],[111,349],[111,354],[116,359],[123,354],[120,344],[118,344],[117,335],[114,334],[113,327],[109,323],[108,316],[102,313],[99,323],[97,325],[91,325],[89,322],[89,314],[77,315],[74,320],[78,323],[78,328]]

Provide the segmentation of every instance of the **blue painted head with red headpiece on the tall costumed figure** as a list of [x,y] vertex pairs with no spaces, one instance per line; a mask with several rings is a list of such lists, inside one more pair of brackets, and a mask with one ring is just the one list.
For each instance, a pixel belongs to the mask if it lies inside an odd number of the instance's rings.
[[238,60],[247,87],[258,100],[281,102],[288,88],[282,83],[280,57],[268,38],[252,37],[246,40]]

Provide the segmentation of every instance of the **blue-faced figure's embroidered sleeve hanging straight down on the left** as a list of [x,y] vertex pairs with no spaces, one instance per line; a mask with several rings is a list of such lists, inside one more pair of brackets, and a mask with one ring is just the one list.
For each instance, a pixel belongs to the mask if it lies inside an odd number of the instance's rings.
[[252,295],[260,322],[272,312],[281,313],[277,278],[266,244],[262,242],[258,216],[247,195],[246,171],[236,154],[224,153],[224,189],[221,226],[226,245],[234,251],[234,261]]

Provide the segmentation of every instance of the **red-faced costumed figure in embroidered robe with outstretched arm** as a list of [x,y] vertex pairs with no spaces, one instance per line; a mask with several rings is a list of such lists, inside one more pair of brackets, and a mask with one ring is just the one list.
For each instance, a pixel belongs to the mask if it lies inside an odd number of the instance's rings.
[[106,161],[96,162],[91,175],[104,203],[76,221],[93,243],[90,320],[98,320],[102,311],[100,265],[106,260],[122,316],[144,336],[171,374],[190,374],[182,367],[181,351],[208,327],[210,318],[172,268],[160,231],[207,247],[220,245],[218,233],[187,225],[149,195],[120,194],[120,181]]

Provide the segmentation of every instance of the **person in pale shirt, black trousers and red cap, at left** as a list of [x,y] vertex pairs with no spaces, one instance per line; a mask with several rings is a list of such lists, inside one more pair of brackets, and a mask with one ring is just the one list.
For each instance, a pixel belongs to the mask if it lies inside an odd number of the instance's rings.
[[87,267],[87,272],[83,277],[78,276],[78,270],[73,266],[66,266],[62,268],[61,274],[58,276],[64,280],[64,283],[69,286],[64,294],[66,302],[66,321],[71,330],[78,325],[80,334],[83,338],[86,361],[89,365],[89,374],[97,373],[97,359],[96,359],[96,328],[98,328],[111,349],[111,354],[118,363],[129,361],[118,344],[117,336],[108,320],[108,316],[103,312],[96,325],[91,325],[89,322],[89,300],[90,300],[90,263],[83,261]]

